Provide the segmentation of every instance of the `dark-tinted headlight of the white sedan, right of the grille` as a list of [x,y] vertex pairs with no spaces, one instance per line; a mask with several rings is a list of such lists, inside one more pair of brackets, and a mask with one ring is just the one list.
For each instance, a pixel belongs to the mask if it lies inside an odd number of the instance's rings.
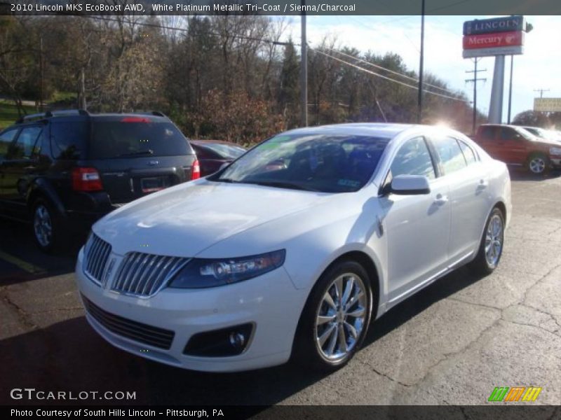
[[270,272],[284,264],[284,249],[239,258],[194,258],[173,278],[171,288],[206,288],[237,283]]

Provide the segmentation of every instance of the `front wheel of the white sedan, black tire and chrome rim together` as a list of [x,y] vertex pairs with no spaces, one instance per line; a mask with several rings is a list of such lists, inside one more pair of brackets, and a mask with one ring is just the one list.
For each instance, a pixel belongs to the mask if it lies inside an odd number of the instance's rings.
[[311,290],[292,359],[314,370],[339,369],[363,343],[371,314],[372,286],[366,270],[352,260],[335,263]]

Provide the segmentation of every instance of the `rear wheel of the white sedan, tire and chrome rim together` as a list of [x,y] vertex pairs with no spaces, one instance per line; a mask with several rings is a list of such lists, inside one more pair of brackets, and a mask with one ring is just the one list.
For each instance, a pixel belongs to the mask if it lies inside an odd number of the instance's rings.
[[[487,248],[489,246],[489,248]],[[487,276],[499,265],[504,246],[504,216],[501,210],[494,208],[481,237],[478,254],[470,262],[474,274]]]

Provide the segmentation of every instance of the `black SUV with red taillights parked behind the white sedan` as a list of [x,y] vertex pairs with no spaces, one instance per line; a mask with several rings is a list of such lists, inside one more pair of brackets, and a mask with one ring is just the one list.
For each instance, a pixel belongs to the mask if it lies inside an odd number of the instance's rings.
[[123,203],[200,175],[162,113],[57,111],[0,132],[0,216],[32,221],[43,251]]

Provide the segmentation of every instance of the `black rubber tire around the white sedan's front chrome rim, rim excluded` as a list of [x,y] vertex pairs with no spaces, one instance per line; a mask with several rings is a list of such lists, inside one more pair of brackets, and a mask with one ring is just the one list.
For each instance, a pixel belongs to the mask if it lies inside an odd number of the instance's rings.
[[[316,313],[318,305],[321,300],[323,300],[323,296],[325,295],[327,288],[331,285],[333,279],[340,274],[347,272],[356,274],[364,283],[366,289],[365,292],[367,294],[367,313],[363,330],[360,332],[360,336],[358,337],[354,348],[345,358],[337,360],[337,362],[330,362],[320,355],[316,346]],[[334,265],[329,267],[322,276],[320,276],[320,279],[318,279],[316,285],[313,286],[311,290],[306,305],[304,306],[304,310],[302,311],[302,315],[300,316],[297,334],[295,336],[295,345],[293,346],[293,358],[300,365],[313,367],[317,370],[337,370],[339,367],[346,365],[346,363],[353,358],[356,351],[358,351],[360,346],[363,344],[370,325],[370,320],[372,318],[372,305],[372,284],[370,283],[370,276],[368,276],[364,267],[353,260],[335,262]]]

